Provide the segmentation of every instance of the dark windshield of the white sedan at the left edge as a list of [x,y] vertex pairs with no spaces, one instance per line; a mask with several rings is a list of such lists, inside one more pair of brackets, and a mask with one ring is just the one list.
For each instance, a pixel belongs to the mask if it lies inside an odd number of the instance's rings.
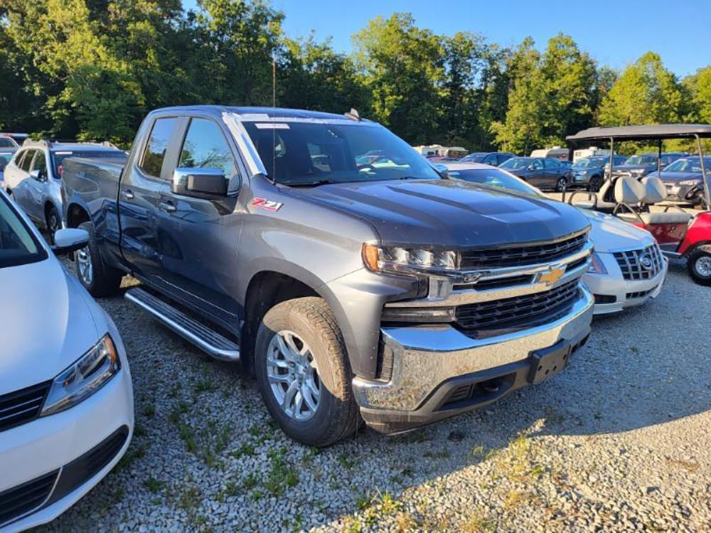
[[34,263],[47,258],[47,252],[24,222],[0,195],[0,269]]

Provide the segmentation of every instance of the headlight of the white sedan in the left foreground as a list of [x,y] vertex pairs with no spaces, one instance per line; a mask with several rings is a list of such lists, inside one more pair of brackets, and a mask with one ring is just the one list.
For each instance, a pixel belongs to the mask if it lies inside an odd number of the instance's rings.
[[54,378],[40,416],[69,409],[97,392],[121,368],[121,361],[107,333],[91,350]]

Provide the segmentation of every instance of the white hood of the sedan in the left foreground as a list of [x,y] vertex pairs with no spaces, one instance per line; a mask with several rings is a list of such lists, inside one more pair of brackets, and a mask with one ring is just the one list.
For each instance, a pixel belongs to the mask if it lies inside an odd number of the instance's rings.
[[96,304],[50,255],[0,269],[0,395],[53,379],[100,335]]

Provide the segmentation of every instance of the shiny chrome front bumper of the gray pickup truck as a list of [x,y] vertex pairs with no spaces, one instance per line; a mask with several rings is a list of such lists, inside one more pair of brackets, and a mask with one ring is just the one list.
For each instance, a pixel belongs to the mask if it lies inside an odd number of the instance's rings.
[[[494,376],[497,369],[507,367],[519,372],[521,365],[516,364],[525,363],[528,367],[531,352],[549,348],[562,340],[571,345],[582,345],[589,335],[593,302],[592,294],[581,287],[580,298],[562,318],[527,330],[483,339],[470,338],[451,325],[383,328],[385,349],[392,350],[391,377],[387,382],[360,377],[353,379],[355,399],[361,413],[371,426],[397,421],[400,430],[407,429],[407,424],[417,426],[457,414],[459,411],[433,412],[439,406],[430,400],[436,396],[438,387],[453,378],[477,372],[492,371],[490,374]],[[523,382],[517,379],[516,383],[518,385],[510,390],[525,384],[525,379]],[[473,405],[469,409],[474,407],[479,406]]]

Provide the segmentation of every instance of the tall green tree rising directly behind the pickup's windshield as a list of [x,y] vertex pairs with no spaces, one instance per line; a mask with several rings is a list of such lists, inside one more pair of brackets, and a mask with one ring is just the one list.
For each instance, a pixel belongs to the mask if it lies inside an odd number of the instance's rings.
[[355,58],[372,95],[373,114],[412,144],[437,139],[444,50],[410,14],[374,18],[353,37]]

